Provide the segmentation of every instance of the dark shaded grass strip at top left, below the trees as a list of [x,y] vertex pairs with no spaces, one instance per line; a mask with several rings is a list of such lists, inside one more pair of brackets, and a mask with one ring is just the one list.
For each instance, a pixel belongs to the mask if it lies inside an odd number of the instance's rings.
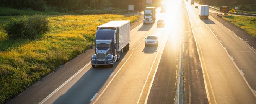
[[0,6],[0,16],[16,16],[16,15],[67,15],[67,13],[60,13],[54,11],[34,11],[34,10],[19,10],[9,7]]

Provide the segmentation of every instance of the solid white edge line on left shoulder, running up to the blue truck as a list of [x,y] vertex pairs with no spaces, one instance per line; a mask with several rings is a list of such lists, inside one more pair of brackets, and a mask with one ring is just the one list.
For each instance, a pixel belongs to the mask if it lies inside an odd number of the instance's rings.
[[44,98],[41,102],[39,102],[38,104],[43,104],[45,101],[47,101],[47,99],[51,98],[51,96],[53,94],[55,94],[57,91],[59,91],[63,86],[65,86],[70,80],[72,80],[75,76],[78,75],[78,73],[82,72],[83,69],[85,69],[86,67],[88,67],[88,65],[90,65],[91,62],[87,63],[85,66],[83,66],[80,70],[78,70],[77,73],[75,73],[73,76],[71,76],[67,81],[65,81],[62,85],[60,85],[57,89],[55,89],[51,94],[49,94],[46,98]]

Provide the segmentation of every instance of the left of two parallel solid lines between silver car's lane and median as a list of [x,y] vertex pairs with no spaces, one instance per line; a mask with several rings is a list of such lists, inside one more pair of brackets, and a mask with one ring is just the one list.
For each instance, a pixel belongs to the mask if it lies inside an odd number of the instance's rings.
[[[167,37],[167,38],[165,38],[165,37]],[[152,68],[153,68],[153,66],[154,66],[154,64],[155,64],[155,61],[157,60],[157,56],[158,56],[158,54],[159,54],[159,52],[160,52],[159,50],[161,49],[163,43],[164,43],[164,46],[165,46],[165,43],[166,43],[166,41],[167,41],[167,39],[168,39],[168,37],[169,37],[169,33],[168,33],[167,36],[165,36],[165,37],[164,37],[165,41],[163,41],[163,42],[161,43],[160,48],[159,48],[158,51],[157,51],[157,55],[156,55],[156,57],[155,57],[155,59],[154,59],[154,62],[153,62],[153,64],[152,64],[151,68],[150,68],[150,71],[148,72],[147,79],[146,79],[146,81],[145,81],[145,83],[144,83],[144,85],[143,85],[142,91],[140,92],[140,96],[139,96],[139,99],[138,99],[138,101],[137,101],[137,104],[139,104],[139,102],[140,102],[140,98],[141,98],[141,96],[142,96],[142,93],[143,93],[144,88],[145,88],[145,86],[146,86],[146,83],[147,83],[147,81],[148,81],[149,75],[150,75],[150,73],[151,73],[151,71],[152,71]],[[163,49],[164,49],[164,47],[163,47]],[[163,52],[161,52],[161,54],[163,54]],[[161,58],[160,58],[160,59],[161,59]],[[160,62],[160,59],[158,60],[158,64],[159,64],[159,62]],[[157,65],[157,67],[158,67],[158,65]],[[154,74],[154,75],[155,75],[155,74]],[[150,87],[151,87],[151,86],[150,86]]]

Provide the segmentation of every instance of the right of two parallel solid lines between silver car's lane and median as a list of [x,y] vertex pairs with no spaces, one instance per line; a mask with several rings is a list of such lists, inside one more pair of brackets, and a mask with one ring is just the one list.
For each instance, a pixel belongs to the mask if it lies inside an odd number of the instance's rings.
[[[169,34],[169,33],[168,33]],[[169,37],[169,36],[168,36]],[[168,38],[166,38],[166,41],[167,41],[167,39]],[[166,43],[165,43],[166,44]],[[164,44],[164,46],[163,46],[163,50],[165,49],[165,44]],[[161,57],[162,57],[162,55],[163,55],[163,51],[161,52],[161,54],[160,54],[160,58],[159,58],[159,61],[158,61],[158,63],[157,63],[157,67],[156,67],[156,69],[155,69],[155,73],[154,73],[154,75],[153,75],[153,78],[152,78],[152,80],[151,80],[151,83],[150,83],[150,85],[149,85],[149,88],[148,88],[148,92],[147,92],[147,96],[146,96],[146,99],[145,99],[145,103],[144,104],[147,104],[147,101],[148,101],[148,96],[149,96],[149,93],[150,93],[150,91],[151,91],[151,88],[152,88],[152,85],[153,85],[153,82],[154,82],[154,79],[155,79],[155,75],[156,75],[156,73],[157,73],[157,69],[158,69],[158,66],[159,66],[159,63],[160,63],[160,60],[161,60]],[[138,100],[138,102],[140,101],[140,99]],[[138,104],[138,102],[137,102],[137,104]]]

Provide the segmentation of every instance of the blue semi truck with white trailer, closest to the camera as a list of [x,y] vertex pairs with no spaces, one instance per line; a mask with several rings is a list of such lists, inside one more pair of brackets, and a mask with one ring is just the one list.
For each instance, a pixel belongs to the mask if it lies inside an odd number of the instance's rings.
[[[95,54],[91,65],[111,65],[121,60],[120,54],[130,49],[130,21],[110,21],[97,27]],[[91,45],[93,49],[93,45]]]

